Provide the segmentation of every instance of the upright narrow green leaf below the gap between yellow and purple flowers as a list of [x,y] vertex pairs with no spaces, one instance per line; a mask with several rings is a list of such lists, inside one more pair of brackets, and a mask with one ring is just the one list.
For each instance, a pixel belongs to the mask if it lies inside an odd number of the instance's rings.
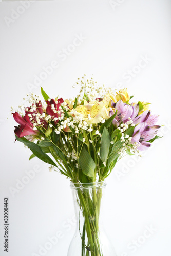
[[110,135],[106,127],[103,129],[102,138],[101,138],[101,147],[100,147],[100,158],[102,162],[107,161],[110,147]]

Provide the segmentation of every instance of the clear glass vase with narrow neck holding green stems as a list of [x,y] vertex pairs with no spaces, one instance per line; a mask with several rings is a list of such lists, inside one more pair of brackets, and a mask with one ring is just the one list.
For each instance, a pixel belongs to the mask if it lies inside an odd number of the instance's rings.
[[103,228],[105,182],[72,183],[77,227],[67,256],[116,256]]

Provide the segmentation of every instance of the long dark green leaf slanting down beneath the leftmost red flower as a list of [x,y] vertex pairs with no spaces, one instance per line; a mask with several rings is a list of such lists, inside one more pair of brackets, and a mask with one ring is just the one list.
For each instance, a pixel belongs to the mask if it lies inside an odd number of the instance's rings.
[[39,159],[41,159],[45,163],[49,163],[49,164],[54,165],[55,167],[57,167],[56,164],[53,162],[53,160],[48,155],[46,155],[46,153],[44,153],[41,150],[41,147],[39,145],[37,145],[33,142],[30,142],[29,140],[27,140],[24,137],[18,138],[16,135],[15,135],[15,137],[16,137],[17,141],[23,142],[28,148],[30,148],[30,150],[32,151],[32,153],[36,157],[38,157]]

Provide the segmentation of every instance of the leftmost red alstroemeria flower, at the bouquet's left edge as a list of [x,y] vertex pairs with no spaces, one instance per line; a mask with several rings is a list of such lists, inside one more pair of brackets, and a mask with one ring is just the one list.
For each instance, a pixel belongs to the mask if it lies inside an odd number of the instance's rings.
[[28,114],[22,117],[18,112],[13,113],[14,120],[20,124],[15,126],[14,133],[18,138],[24,137],[26,135],[37,135],[39,131],[33,130],[33,124],[28,118]]

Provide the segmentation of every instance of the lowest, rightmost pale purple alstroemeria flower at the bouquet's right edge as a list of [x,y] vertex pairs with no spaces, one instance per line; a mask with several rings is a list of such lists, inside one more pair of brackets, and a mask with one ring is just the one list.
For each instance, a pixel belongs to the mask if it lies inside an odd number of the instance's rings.
[[148,141],[155,137],[159,128],[159,125],[153,125],[150,127],[146,122],[139,123],[134,129],[131,143],[137,142],[139,144],[138,150],[146,150],[151,146],[151,143]]

